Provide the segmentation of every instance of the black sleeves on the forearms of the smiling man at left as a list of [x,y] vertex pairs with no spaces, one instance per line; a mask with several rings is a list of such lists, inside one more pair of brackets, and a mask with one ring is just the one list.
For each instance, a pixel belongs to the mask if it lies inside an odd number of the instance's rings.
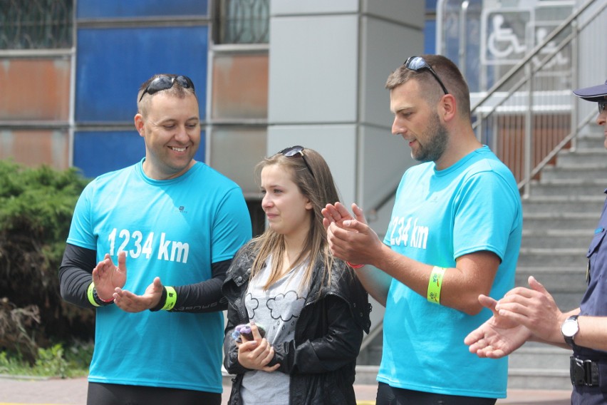
[[[171,312],[215,312],[227,309],[227,301],[222,294],[222,284],[232,260],[223,260],[211,265],[209,280],[172,286],[177,292],[177,302]],[[59,267],[61,297],[78,307],[94,308],[87,297],[87,289],[92,281],[91,274],[97,265],[95,250],[67,244]],[[150,275],[150,283],[155,275]],[[128,269],[127,269],[128,278]]]

